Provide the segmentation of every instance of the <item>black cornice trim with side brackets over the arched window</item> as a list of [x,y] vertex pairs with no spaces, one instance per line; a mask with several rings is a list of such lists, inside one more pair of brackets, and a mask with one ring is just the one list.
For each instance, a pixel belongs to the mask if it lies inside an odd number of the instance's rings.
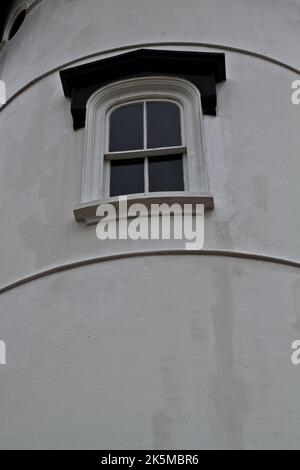
[[216,84],[226,80],[225,54],[139,49],[62,70],[65,96],[72,99],[74,129],[85,127],[86,104],[96,91],[118,80],[168,75],[185,78],[200,91],[204,114],[216,115]]

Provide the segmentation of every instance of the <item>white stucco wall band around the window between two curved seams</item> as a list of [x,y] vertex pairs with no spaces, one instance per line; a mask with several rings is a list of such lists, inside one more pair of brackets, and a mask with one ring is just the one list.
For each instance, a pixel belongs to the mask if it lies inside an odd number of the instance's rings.
[[[300,112],[290,99],[294,74],[237,53],[227,53],[226,61],[228,80],[218,87],[218,116],[203,119],[216,204],[206,215],[205,248],[300,261]],[[100,243],[94,227],[75,223],[84,130],[73,131],[70,101],[57,73],[14,100],[0,120],[1,285],[86,257],[173,246]]]

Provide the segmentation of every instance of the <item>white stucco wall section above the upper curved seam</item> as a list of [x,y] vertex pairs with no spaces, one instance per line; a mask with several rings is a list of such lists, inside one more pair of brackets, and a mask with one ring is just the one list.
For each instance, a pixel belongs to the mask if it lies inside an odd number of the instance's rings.
[[299,21],[300,0],[42,0],[3,51],[0,73],[10,95],[68,61],[170,41],[244,49],[299,69]]

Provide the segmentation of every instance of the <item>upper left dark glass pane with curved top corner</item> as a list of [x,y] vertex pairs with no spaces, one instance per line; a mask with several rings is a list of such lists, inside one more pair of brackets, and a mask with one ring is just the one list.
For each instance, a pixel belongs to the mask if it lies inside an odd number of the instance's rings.
[[144,147],[144,105],[129,104],[110,117],[110,152],[140,150]]

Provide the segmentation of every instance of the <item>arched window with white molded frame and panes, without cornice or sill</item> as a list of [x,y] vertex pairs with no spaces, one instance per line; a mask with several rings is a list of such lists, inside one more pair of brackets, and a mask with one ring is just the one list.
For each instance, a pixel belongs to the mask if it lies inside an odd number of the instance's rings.
[[154,193],[208,195],[201,97],[181,78],[114,82],[87,103],[82,204]]

